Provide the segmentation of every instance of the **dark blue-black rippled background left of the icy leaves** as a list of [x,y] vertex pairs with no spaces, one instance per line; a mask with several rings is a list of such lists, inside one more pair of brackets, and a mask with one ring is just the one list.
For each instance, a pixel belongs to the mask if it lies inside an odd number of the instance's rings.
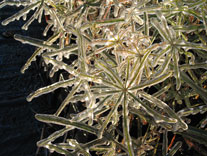
[[[0,22],[20,9],[0,9]],[[38,61],[33,62],[25,74],[20,73],[35,47],[13,39],[14,34],[42,38],[44,24],[35,21],[28,31],[24,31],[21,30],[24,23],[20,20],[7,26],[0,25],[0,156],[35,155],[42,124],[34,118],[34,114],[47,109],[47,103],[41,98],[31,103],[25,100],[29,93],[45,85]]]

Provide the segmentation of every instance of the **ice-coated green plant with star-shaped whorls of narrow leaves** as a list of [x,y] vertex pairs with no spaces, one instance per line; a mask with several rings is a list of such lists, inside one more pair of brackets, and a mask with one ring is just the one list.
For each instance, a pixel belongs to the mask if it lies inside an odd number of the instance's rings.
[[[27,101],[59,88],[70,90],[56,112],[35,115],[62,126],[38,147],[67,156],[136,156],[156,155],[161,144],[162,155],[171,156],[183,142],[169,146],[168,132],[207,146],[206,118],[197,127],[187,122],[188,116],[207,111],[206,0],[3,0],[0,8],[6,5],[23,9],[3,25],[27,20],[34,10],[22,29],[44,19],[43,35],[52,32],[45,41],[14,36],[37,47],[22,73],[41,56],[52,67],[49,76],[60,75]],[[79,102],[85,108],[81,112],[64,111]],[[144,134],[143,125],[148,125]],[[74,129],[94,137],[87,143],[57,141]]]

